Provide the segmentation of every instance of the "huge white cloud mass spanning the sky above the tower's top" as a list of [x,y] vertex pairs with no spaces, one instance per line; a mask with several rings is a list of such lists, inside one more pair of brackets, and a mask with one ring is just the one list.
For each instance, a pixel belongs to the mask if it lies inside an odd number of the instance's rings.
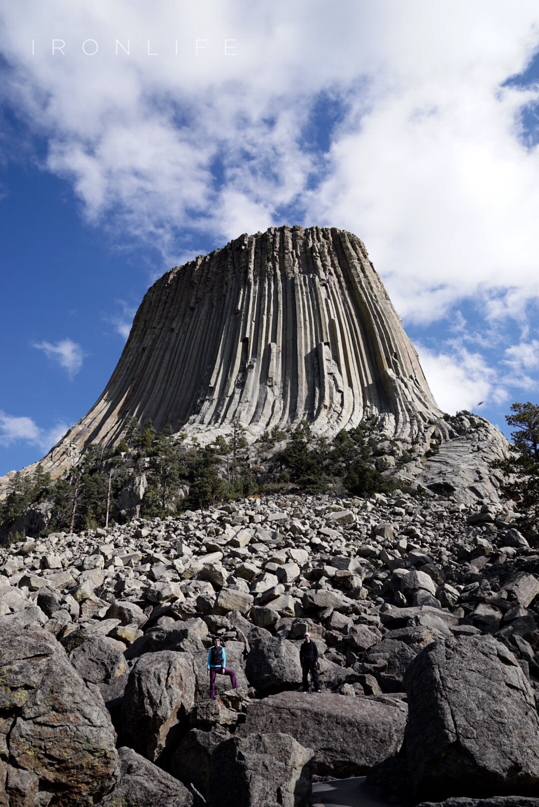
[[[501,89],[539,44],[534,0],[28,0],[1,15],[3,93],[119,240],[175,262],[295,206],[356,232],[409,320],[464,297],[520,317],[539,295],[539,151],[519,122],[539,88]],[[322,91],[342,104],[325,156],[302,140]]]

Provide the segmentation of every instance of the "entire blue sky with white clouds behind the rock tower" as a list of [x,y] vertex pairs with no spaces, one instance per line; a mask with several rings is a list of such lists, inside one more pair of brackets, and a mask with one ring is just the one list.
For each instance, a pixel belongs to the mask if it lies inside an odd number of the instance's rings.
[[535,2],[6,0],[0,49],[0,475],[155,278],[272,224],[365,241],[442,408],[537,400]]

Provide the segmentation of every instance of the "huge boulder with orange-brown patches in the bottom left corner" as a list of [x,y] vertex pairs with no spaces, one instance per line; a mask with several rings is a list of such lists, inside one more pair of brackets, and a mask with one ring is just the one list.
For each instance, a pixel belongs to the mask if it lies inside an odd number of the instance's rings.
[[98,801],[119,775],[111,719],[52,633],[0,622],[0,784],[6,805]]

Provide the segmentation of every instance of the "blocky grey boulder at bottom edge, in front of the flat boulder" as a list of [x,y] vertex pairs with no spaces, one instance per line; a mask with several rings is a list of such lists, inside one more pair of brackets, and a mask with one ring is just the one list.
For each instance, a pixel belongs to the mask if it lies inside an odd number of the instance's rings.
[[288,734],[250,734],[211,755],[208,807],[307,807],[313,753]]

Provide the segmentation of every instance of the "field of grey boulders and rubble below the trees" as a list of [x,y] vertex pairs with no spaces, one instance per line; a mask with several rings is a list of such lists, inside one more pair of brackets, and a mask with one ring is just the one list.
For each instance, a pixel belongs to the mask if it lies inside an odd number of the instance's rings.
[[[0,805],[300,807],[313,779],[365,774],[401,803],[539,805],[524,533],[499,505],[396,491],[0,550]],[[321,694],[301,692],[306,630]],[[215,635],[239,688],[217,676],[210,700]]]

